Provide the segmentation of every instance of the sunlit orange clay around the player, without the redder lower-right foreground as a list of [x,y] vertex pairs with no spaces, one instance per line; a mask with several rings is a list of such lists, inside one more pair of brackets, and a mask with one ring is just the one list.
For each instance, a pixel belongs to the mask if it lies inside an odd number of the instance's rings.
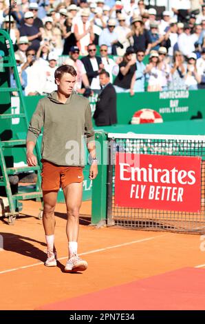
[[[34,265],[45,261],[43,226],[36,218],[39,207],[40,203],[25,201],[22,211],[25,216],[17,219],[14,226],[1,221],[4,243],[4,250],[0,251],[1,310],[34,310],[68,298],[205,263],[198,235],[80,225],[78,252],[85,253],[82,257],[89,267],[81,274],[67,274],[63,272],[67,257],[65,205],[58,204],[56,249],[58,258],[64,259],[59,261],[58,267],[47,268],[43,263]],[[83,203],[81,214],[90,214],[90,210],[91,203]],[[83,217],[83,223],[88,224],[89,219]],[[93,252],[99,249],[103,250]],[[23,266],[26,267],[19,269]],[[155,298],[157,300],[158,296]],[[193,295],[193,305],[194,298]],[[100,310],[99,303],[95,307]],[[125,305],[120,307],[124,309]]]

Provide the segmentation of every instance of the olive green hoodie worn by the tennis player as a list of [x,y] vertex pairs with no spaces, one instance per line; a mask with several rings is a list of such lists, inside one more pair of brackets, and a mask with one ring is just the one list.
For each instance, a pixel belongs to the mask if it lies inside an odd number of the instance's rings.
[[94,141],[89,100],[75,92],[66,103],[57,100],[56,91],[39,100],[28,128],[27,141],[36,143],[43,127],[42,159],[56,165],[83,166],[84,137]]

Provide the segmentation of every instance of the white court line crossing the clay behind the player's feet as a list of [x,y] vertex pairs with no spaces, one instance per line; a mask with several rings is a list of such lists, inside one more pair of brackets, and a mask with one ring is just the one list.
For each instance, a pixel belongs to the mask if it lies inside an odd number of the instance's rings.
[[[83,252],[83,253],[80,253],[78,255],[81,256],[81,255],[86,255],[86,254],[91,254],[91,253],[97,253],[97,252],[102,252],[102,251],[106,251],[106,250],[115,249],[116,247],[122,247],[122,246],[131,245],[131,244],[135,244],[135,243],[141,243],[141,242],[145,242],[145,241],[150,241],[150,240],[156,239],[158,237],[162,237],[164,235],[167,235],[167,234],[158,235],[158,236],[151,236],[151,237],[149,237],[147,239],[142,239],[142,240],[138,240],[138,241],[131,241],[131,242],[128,242],[128,243],[122,243],[122,244],[118,244],[118,245],[111,245],[109,247],[103,247],[102,249]],[[58,260],[64,260],[64,259],[67,259],[67,256],[62,256],[61,258],[58,258]],[[35,267],[36,265],[43,265],[43,264],[44,264],[43,262],[39,262],[39,263],[34,263],[32,265],[24,265],[23,267],[15,267],[13,269],[8,269],[8,270],[1,271],[0,274],[6,274],[7,272],[17,271],[17,270],[21,270],[21,269],[27,269],[29,267]]]

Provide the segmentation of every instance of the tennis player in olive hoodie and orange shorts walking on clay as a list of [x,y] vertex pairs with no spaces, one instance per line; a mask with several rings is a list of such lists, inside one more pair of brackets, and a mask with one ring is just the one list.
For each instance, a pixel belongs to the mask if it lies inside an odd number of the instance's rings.
[[37,164],[33,153],[36,139],[43,127],[42,191],[43,227],[47,243],[47,267],[56,266],[54,247],[54,210],[57,194],[63,189],[67,207],[67,239],[69,257],[65,272],[87,269],[87,262],[78,257],[79,210],[83,195],[83,137],[89,150],[89,179],[98,174],[94,129],[91,122],[89,100],[73,91],[76,70],[71,65],[61,65],[55,71],[58,89],[41,99],[30,121],[27,134],[27,163]]

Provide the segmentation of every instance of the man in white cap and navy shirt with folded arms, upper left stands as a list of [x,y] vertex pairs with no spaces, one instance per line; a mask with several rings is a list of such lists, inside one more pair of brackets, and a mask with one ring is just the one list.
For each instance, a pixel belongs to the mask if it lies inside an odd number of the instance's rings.
[[28,40],[31,41],[32,48],[36,51],[39,50],[41,42],[41,32],[39,28],[34,26],[34,14],[31,11],[25,12],[24,15],[25,23],[19,29],[21,36],[27,36]]

